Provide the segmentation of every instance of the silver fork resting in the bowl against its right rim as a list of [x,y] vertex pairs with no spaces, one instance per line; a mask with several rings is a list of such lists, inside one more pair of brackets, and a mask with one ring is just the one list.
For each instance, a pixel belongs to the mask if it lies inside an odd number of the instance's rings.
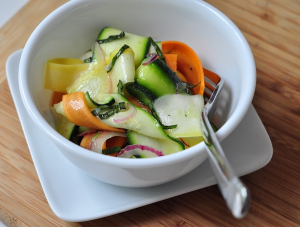
[[203,139],[207,147],[210,165],[213,169],[221,194],[232,215],[235,218],[242,218],[249,210],[250,191],[236,176],[210,125],[216,112],[223,80],[214,73],[212,73],[214,74],[214,78],[207,80],[207,77],[211,75],[211,72],[207,71],[207,69],[205,70],[208,72],[207,76],[205,76],[205,96],[210,97],[201,110],[200,123]]

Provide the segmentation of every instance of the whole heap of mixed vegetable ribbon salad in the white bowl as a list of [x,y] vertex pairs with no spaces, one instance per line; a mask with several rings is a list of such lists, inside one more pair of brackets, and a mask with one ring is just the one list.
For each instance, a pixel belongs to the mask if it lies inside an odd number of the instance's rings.
[[104,27],[79,59],[46,62],[44,88],[55,129],[86,149],[155,157],[202,141],[203,68],[180,41]]

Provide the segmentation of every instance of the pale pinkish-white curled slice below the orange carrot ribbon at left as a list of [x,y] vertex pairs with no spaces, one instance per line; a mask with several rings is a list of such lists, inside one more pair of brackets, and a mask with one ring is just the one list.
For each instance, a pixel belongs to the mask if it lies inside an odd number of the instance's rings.
[[127,137],[125,132],[118,132],[118,131],[98,131],[98,134],[93,138],[90,143],[89,149],[98,153],[102,153],[102,146],[103,143],[114,136],[121,136]]

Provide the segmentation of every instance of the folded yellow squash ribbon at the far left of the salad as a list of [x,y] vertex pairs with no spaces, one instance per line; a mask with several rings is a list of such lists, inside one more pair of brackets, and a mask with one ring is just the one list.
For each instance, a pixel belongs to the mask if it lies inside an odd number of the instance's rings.
[[66,93],[66,87],[94,64],[94,62],[85,63],[76,58],[50,59],[46,62],[44,88]]

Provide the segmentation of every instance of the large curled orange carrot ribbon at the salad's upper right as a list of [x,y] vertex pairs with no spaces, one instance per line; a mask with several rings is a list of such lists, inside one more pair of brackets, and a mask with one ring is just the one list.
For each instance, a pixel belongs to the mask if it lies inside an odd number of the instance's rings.
[[200,84],[192,88],[194,94],[203,95],[204,74],[202,63],[195,51],[183,42],[162,41],[162,53],[177,54],[177,70],[180,71],[190,84]]

